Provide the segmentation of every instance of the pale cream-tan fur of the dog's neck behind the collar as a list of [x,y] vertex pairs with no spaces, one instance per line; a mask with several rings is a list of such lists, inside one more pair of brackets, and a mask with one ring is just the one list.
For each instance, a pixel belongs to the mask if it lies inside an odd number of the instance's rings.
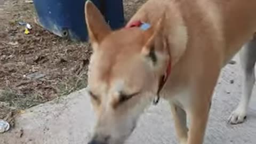
[[188,42],[187,26],[178,4],[172,1],[158,2],[149,0],[134,14],[127,25],[134,21],[143,21],[150,23],[150,25],[156,25],[159,19],[163,17],[162,37],[168,42],[172,65],[175,65],[185,52]]

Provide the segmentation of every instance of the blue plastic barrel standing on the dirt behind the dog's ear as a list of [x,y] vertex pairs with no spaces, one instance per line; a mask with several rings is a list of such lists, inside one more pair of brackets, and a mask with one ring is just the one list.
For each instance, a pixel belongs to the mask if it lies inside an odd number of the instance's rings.
[[[91,0],[112,29],[124,25],[123,0]],[[34,0],[38,22],[53,34],[87,41],[84,4],[86,0]]]

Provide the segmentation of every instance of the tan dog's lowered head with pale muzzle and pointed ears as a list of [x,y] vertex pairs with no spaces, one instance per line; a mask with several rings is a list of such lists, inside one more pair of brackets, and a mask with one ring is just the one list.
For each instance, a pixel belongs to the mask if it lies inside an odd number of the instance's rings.
[[89,143],[123,143],[155,97],[169,60],[161,21],[148,30],[112,31],[90,1],[85,17],[93,47],[88,87],[97,115]]

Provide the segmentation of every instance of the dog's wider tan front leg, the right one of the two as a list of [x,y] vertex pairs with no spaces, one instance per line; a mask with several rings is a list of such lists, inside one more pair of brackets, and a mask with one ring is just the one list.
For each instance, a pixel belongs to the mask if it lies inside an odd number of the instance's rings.
[[[218,74],[218,73],[216,73]],[[189,123],[188,143],[202,144],[211,108],[212,94],[218,75],[197,81],[191,91],[189,104],[186,108]]]

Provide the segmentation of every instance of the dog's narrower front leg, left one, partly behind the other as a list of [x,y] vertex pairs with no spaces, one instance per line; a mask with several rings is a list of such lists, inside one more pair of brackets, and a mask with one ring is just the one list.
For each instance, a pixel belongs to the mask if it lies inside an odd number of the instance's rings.
[[186,112],[175,105],[173,102],[169,102],[172,109],[172,116],[175,123],[175,130],[178,136],[180,144],[187,144],[188,128],[187,128],[187,116]]

